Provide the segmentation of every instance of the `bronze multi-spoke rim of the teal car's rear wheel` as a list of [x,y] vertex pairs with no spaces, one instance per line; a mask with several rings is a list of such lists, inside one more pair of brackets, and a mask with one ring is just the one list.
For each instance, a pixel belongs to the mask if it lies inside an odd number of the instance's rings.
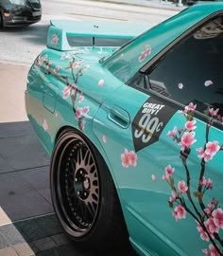
[[99,177],[94,155],[81,137],[64,143],[58,171],[60,213],[71,229],[86,233],[99,208]]

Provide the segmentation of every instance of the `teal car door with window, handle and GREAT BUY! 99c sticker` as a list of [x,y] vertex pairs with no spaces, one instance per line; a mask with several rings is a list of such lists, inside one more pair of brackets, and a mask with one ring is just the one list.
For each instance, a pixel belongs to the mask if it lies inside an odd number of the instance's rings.
[[95,115],[130,240],[145,255],[222,250],[222,27],[217,16],[196,28]]

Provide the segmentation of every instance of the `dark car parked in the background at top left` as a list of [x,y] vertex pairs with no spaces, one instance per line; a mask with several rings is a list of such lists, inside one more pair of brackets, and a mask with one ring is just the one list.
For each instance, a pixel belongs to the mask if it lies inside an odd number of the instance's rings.
[[30,25],[41,17],[40,0],[0,0],[0,27]]

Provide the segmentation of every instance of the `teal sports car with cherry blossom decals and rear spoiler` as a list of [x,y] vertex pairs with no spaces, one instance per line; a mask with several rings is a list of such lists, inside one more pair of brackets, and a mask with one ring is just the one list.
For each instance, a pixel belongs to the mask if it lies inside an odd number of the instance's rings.
[[51,22],[26,112],[77,245],[223,255],[223,2],[156,27]]

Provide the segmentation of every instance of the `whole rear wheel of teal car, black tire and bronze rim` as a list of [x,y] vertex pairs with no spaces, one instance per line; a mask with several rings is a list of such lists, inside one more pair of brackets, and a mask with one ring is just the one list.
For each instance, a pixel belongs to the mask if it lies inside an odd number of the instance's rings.
[[50,166],[53,206],[65,232],[87,249],[129,245],[111,175],[94,145],[73,130],[63,133]]

